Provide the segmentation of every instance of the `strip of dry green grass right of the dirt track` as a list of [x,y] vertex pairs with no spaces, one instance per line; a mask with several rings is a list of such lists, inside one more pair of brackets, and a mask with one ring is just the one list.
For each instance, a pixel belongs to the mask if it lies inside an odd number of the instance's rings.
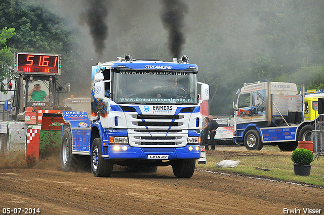
[[[324,187],[324,157],[316,157],[311,163],[310,176],[295,176],[291,155],[292,152],[282,152],[277,146],[264,146],[260,151],[248,151],[245,147],[217,147],[215,151],[207,152],[206,164],[197,166]],[[217,163],[222,160],[239,160],[240,163],[233,168],[217,167]],[[270,170],[264,171],[255,167]]]

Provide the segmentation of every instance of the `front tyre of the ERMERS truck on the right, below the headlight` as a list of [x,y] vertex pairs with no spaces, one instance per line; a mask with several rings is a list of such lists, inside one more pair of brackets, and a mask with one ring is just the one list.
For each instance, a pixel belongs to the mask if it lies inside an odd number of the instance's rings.
[[177,178],[191,178],[196,165],[195,159],[176,160],[172,164],[173,174]]

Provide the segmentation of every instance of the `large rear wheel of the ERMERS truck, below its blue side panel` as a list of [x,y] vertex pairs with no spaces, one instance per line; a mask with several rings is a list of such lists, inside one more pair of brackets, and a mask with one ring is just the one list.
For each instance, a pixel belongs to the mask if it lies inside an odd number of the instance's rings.
[[61,169],[63,171],[70,170],[90,170],[90,158],[85,155],[72,154],[72,132],[71,128],[67,127],[63,133],[60,149]]

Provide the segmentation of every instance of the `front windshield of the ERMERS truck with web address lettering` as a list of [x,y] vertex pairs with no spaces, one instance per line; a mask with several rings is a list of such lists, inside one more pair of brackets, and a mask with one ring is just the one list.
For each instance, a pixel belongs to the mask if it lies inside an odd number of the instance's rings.
[[156,73],[155,70],[145,71],[145,74],[115,72],[112,92],[114,101],[127,104],[197,104],[195,73],[160,72],[163,75]]

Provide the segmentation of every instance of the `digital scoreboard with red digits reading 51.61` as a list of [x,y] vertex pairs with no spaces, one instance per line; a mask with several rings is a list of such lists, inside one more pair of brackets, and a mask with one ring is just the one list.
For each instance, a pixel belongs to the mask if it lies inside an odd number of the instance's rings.
[[61,75],[61,55],[15,52],[14,72]]

